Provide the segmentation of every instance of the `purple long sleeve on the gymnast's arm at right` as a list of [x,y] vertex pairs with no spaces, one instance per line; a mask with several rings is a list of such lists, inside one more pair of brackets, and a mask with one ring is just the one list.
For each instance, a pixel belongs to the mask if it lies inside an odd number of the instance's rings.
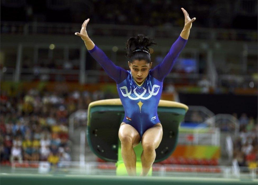
[[159,81],[163,81],[164,78],[170,73],[172,67],[179,56],[182,49],[185,47],[187,43],[186,39],[183,39],[181,36],[174,42],[172,47],[170,48],[167,56],[164,58],[162,63],[157,65],[151,70],[151,75]]

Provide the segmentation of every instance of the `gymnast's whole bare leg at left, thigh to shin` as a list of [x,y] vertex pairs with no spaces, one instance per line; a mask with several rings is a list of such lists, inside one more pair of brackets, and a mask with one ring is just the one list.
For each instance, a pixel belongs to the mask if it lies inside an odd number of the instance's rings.
[[133,147],[140,142],[140,135],[135,128],[126,123],[121,123],[119,132],[121,153],[128,175],[136,175],[136,155]]

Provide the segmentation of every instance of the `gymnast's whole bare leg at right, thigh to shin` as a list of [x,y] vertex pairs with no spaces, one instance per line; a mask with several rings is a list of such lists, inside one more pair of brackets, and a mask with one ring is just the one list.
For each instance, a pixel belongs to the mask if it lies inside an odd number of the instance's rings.
[[142,173],[141,175],[145,176],[148,174],[155,158],[156,152],[155,149],[158,148],[162,140],[163,130],[162,125],[157,123],[154,127],[146,130],[142,136],[142,154],[141,154],[141,163],[142,163]]

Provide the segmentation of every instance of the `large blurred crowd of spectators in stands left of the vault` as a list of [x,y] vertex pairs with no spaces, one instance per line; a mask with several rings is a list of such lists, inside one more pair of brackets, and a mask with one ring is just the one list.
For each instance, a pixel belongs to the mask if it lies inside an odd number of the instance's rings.
[[54,165],[71,161],[69,115],[103,98],[104,93],[99,91],[91,95],[87,91],[31,89],[16,96],[1,91],[1,164],[14,160],[48,161]]

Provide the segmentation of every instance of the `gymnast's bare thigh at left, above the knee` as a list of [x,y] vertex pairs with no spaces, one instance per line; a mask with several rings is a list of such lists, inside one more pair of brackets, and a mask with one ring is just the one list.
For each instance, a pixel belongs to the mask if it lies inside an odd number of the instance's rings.
[[118,137],[120,141],[121,141],[121,138],[123,137],[131,137],[133,147],[137,146],[140,143],[140,139],[141,139],[138,131],[130,124],[126,124],[124,122],[122,122],[120,125]]

